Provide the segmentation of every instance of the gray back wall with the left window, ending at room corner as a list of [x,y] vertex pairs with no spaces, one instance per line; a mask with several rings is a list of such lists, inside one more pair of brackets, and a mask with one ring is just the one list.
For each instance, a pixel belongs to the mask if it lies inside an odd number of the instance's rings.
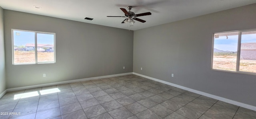
[[[56,33],[56,63],[12,65],[11,29]],[[11,10],[4,31],[7,88],[132,72],[133,31]]]

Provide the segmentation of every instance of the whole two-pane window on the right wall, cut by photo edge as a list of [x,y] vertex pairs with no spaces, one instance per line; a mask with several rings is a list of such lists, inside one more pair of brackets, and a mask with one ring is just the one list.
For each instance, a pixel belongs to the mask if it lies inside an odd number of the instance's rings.
[[214,33],[212,69],[256,73],[256,29]]

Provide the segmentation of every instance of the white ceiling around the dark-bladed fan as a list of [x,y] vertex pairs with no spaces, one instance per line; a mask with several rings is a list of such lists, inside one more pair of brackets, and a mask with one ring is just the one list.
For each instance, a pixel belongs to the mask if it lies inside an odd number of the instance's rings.
[[[0,0],[0,6],[6,10],[130,30],[143,29],[253,3],[256,3],[256,0]],[[146,22],[136,21],[133,26],[121,23],[125,18],[106,17],[124,16],[120,8],[126,8],[128,11],[128,6],[136,6],[131,10],[135,14],[151,12],[152,15],[138,17]],[[84,20],[86,17],[93,18],[93,20]]]

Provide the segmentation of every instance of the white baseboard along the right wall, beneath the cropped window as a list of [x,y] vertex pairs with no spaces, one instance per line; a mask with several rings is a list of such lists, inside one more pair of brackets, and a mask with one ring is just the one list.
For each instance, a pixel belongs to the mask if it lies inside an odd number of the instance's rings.
[[135,72],[133,72],[132,74],[142,76],[144,78],[148,78],[148,79],[151,79],[151,80],[154,80],[154,81],[157,81],[157,82],[161,82],[161,83],[164,83],[164,84],[167,84],[167,85],[170,85],[170,86],[181,88],[181,89],[184,89],[184,90],[196,93],[196,94],[207,96],[207,97],[210,97],[210,98],[213,98],[213,99],[218,99],[218,100],[224,101],[226,103],[230,103],[230,104],[233,104],[233,105],[237,105],[237,106],[240,106],[240,107],[244,107],[244,108],[256,111],[256,107],[252,106],[252,105],[248,105],[248,104],[241,103],[241,102],[238,102],[238,101],[234,101],[234,100],[231,100],[231,99],[222,98],[220,96],[215,96],[215,95],[212,95],[212,94],[208,94],[208,93],[205,93],[205,92],[201,92],[201,91],[198,91],[198,90],[194,90],[194,89],[191,89],[191,88],[187,88],[187,87],[184,87],[184,86],[180,86],[180,85],[177,85],[177,84],[173,84],[173,83],[170,83],[170,82],[166,82],[166,81],[163,81],[163,80],[159,80],[159,79],[156,79],[156,78],[152,78],[152,77],[149,77],[149,76],[138,74],[138,73],[135,73]]

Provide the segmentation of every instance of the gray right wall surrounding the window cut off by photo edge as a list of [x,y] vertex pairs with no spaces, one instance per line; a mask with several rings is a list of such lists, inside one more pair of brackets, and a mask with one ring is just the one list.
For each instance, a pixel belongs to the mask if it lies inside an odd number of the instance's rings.
[[210,69],[213,33],[253,28],[256,4],[136,30],[133,71],[256,106],[255,75]]

